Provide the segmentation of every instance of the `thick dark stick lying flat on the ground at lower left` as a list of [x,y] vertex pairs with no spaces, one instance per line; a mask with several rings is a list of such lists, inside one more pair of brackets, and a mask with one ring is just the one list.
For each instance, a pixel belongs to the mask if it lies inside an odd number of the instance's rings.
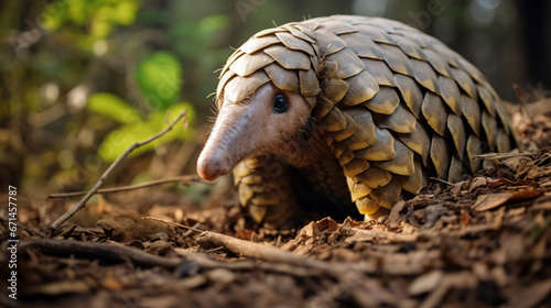
[[123,262],[130,260],[132,263],[145,267],[161,266],[165,268],[175,268],[184,262],[184,260],[180,257],[159,256],[138,249],[114,243],[40,239],[32,242],[23,242],[21,248],[34,248],[50,254],[74,254],[79,257],[99,258],[107,262]]

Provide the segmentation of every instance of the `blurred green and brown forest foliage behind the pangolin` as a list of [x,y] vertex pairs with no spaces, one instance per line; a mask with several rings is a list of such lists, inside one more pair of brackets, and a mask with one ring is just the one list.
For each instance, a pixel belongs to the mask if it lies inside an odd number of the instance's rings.
[[26,191],[89,187],[128,145],[110,184],[194,174],[226,58],[273,24],[328,14],[402,21],[488,76],[506,100],[550,96],[544,0],[54,0],[0,3],[0,182]]

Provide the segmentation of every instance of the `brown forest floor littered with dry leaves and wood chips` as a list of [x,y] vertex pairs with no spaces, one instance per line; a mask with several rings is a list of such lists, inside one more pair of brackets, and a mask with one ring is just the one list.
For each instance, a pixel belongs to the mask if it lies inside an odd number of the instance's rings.
[[159,202],[153,187],[139,209],[98,197],[52,237],[63,202],[19,196],[17,256],[1,216],[0,306],[551,307],[551,121],[514,121],[533,154],[432,185],[385,223],[255,230],[227,193],[192,209]]

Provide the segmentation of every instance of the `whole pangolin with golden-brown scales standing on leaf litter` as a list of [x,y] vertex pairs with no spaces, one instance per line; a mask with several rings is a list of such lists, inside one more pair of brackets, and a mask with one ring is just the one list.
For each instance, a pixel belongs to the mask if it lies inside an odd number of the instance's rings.
[[[240,204],[279,228],[311,195],[366,219],[451,183],[515,138],[488,80],[442,42],[382,18],[332,15],[255,34],[228,58],[197,162],[234,170]],[[300,199],[300,198],[299,198]]]

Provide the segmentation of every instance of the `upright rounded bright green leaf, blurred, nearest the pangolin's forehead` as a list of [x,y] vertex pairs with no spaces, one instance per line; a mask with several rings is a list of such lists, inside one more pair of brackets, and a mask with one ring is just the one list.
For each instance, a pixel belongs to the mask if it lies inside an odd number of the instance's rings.
[[153,109],[166,110],[180,97],[181,64],[172,53],[153,53],[138,64],[136,81]]

